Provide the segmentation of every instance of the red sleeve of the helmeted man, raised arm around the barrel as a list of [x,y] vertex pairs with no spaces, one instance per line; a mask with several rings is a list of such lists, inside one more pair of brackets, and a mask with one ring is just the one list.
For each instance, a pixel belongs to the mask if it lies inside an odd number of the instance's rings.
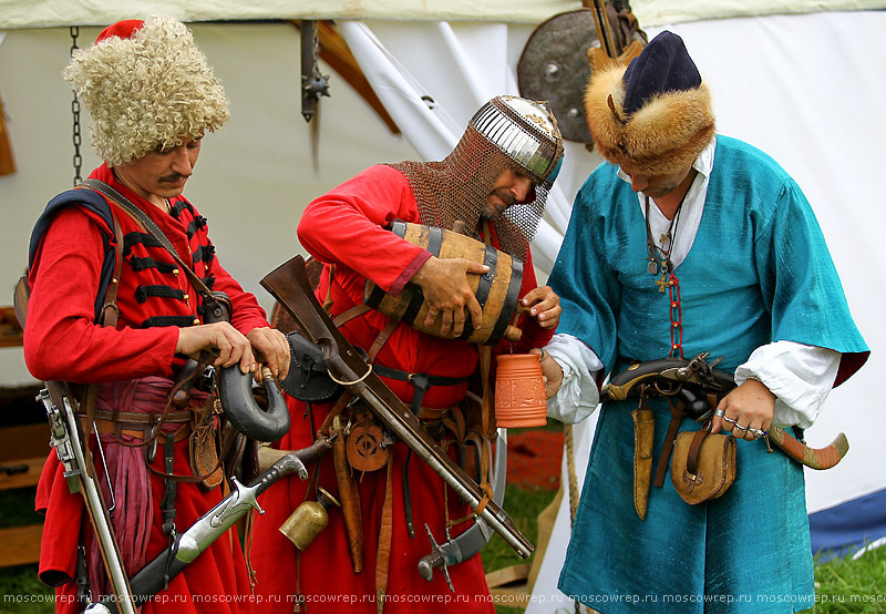
[[390,166],[372,166],[315,199],[298,225],[301,245],[323,263],[344,265],[392,295],[431,254],[384,227],[418,222],[409,183]]

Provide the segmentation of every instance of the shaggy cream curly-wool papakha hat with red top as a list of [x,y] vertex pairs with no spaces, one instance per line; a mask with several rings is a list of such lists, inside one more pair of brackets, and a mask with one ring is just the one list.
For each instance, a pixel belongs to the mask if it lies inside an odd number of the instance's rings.
[[92,117],[95,153],[110,166],[203,136],[230,116],[206,57],[172,18],[110,25],[74,51],[63,75]]

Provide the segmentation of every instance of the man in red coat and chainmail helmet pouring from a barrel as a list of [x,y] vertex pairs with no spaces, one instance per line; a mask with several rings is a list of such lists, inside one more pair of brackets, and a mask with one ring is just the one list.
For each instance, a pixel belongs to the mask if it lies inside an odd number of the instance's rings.
[[[313,201],[299,223],[301,244],[324,263],[317,296],[331,299],[333,317],[363,303],[368,279],[394,296],[408,283],[421,287],[429,306],[426,324],[441,318],[439,336],[391,321],[374,309],[339,328],[354,346],[369,350],[374,372],[454,458],[464,444],[463,431],[475,420],[463,411],[463,401],[481,354],[477,345],[459,337],[468,324],[480,328],[484,317],[466,274],[487,267],[465,258],[437,258],[388,227],[396,219],[446,229],[461,222],[467,234],[523,260],[523,336],[517,344],[501,341],[494,354],[539,348],[554,334],[560,307],[549,288],[536,287],[529,242],[562,157],[563,141],[545,105],[498,96],[474,115],[445,160],[371,166]],[[430,381],[430,388],[422,381]],[[482,393],[482,385],[472,389]],[[289,406],[293,426],[280,448],[303,448],[315,429],[329,427],[330,405],[306,407],[290,399]],[[351,436],[372,428],[368,416],[354,408],[342,418]],[[320,463],[316,481],[287,480],[259,500],[266,513],[256,519],[250,560],[266,611],[288,614],[298,605],[311,614],[369,614],[383,607],[390,614],[446,612],[457,604],[460,612],[494,612],[480,555],[449,567],[454,593],[443,573],[431,582],[420,575],[419,562],[431,551],[425,525],[443,542],[471,526],[471,511],[404,443],[384,450],[381,468],[351,468],[362,524],[356,556],[342,510],[330,509],[328,526],[303,551],[278,530],[300,503],[317,499],[318,488],[339,493],[332,454]]]

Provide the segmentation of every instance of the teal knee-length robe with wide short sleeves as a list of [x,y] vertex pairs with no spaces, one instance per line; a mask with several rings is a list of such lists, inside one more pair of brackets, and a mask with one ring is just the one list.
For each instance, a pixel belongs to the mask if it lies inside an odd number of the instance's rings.
[[[679,233],[679,229],[678,229]],[[670,298],[647,270],[637,194],[601,165],[579,191],[549,277],[557,332],[581,339],[606,373],[670,354]],[[843,352],[836,383],[867,358],[824,237],[796,183],[766,154],[717,137],[698,234],[679,279],[684,357],[734,370],[777,340]],[[660,401],[660,400],[657,400]],[[670,472],[633,510],[637,402],[605,403],[559,587],[606,614],[785,612],[813,604],[802,467],[764,441],[738,442],[738,478],[720,499],[688,505]],[[658,463],[670,420],[655,402]],[[683,420],[681,430],[699,424]]]

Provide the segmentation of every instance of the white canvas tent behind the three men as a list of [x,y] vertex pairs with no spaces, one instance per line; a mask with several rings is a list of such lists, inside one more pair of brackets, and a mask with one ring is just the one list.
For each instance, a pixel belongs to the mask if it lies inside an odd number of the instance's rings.
[[[0,177],[0,283],[11,290],[25,264],[33,221],[52,195],[71,186],[71,93],[60,78],[71,47],[68,25],[103,25],[152,13],[194,21],[197,43],[231,100],[233,117],[224,131],[207,139],[187,195],[209,218],[222,262],[269,307],[270,297],[257,280],[302,252],[295,226],[312,197],[375,162],[444,155],[483,101],[517,93],[515,66],[534,27],[580,8],[580,2],[564,0],[295,4],[0,1],[0,30],[6,29],[0,99],[18,166],[16,174]],[[884,360],[879,340],[886,338],[876,307],[876,288],[886,282],[876,256],[876,233],[886,222],[876,180],[884,166],[879,140],[886,134],[878,109],[886,84],[876,69],[886,40],[886,13],[879,9],[886,3],[722,0],[687,9],[690,4],[698,3],[631,2],[650,37],[668,27],[684,38],[713,92],[719,131],[767,151],[803,186],[856,321],[874,350],[868,365],[833,392],[807,433],[810,443],[821,447],[844,431],[853,447],[837,468],[807,473],[807,503],[814,538],[816,524],[834,522],[848,531],[859,523],[858,531],[823,536],[816,541],[820,545],[828,545],[828,540],[831,545],[853,543],[863,534],[875,539],[886,529],[886,472],[876,460],[877,437],[886,427],[884,403],[876,393]],[[310,129],[299,113],[298,31],[279,21],[226,21],[295,18],[337,20],[403,136],[391,135],[364,101],[332,74],[332,96],[320,102],[315,173]],[[89,44],[97,31],[81,28],[80,44]],[[332,72],[327,65],[321,69]],[[433,99],[433,108],[421,95]],[[96,164],[85,137],[83,154],[85,175]],[[598,162],[580,145],[567,147],[557,193],[534,246],[542,274],[556,255],[573,195]],[[0,350],[0,383],[29,378],[20,350]],[[581,483],[593,427],[586,422],[575,432]],[[854,509],[863,511],[856,514]],[[879,524],[869,526],[870,519]],[[556,576],[567,535],[565,503],[536,583],[536,602],[559,598]],[[540,605],[529,611],[553,611]]]

